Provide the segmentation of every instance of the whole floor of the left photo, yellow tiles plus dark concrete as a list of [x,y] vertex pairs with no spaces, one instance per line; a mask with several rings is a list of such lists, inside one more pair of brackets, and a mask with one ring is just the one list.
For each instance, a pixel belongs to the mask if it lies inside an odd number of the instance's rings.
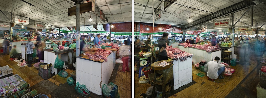
[[[45,94],[50,98],[82,98],[83,96],[79,95],[74,86],[69,86],[66,82],[66,78],[54,77],[43,80],[38,75],[38,70],[35,67],[19,67],[17,62],[10,61],[9,55],[0,55],[0,67],[9,65],[10,68],[13,68],[13,74],[18,74],[22,77],[30,86],[32,90],[36,89],[39,93]],[[34,63],[32,63],[33,65]],[[114,71],[111,75],[109,82],[113,82],[118,86],[118,92],[121,98],[131,97],[131,72],[120,72],[118,69],[122,69],[122,66],[117,64],[114,68]],[[73,72],[73,70],[66,69],[68,74]],[[70,75],[68,76],[70,77]],[[90,92],[90,98],[101,98],[97,94]]]

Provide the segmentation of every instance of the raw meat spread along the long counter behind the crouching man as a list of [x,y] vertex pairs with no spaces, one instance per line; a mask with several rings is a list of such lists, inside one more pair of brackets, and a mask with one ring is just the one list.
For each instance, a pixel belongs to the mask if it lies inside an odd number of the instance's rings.
[[219,45],[211,46],[211,45],[197,45],[197,44],[190,44],[190,43],[180,43],[179,45],[186,47],[192,47],[192,48],[198,48],[201,50],[206,50],[206,52],[211,52],[214,50],[221,50],[221,47]]

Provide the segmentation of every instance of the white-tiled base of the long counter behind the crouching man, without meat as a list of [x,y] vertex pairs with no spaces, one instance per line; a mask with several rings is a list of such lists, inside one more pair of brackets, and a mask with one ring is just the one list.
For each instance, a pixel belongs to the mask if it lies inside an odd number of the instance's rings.
[[[197,48],[191,48],[178,45],[178,48],[186,51],[190,54],[193,54],[193,63],[199,63],[201,62],[200,59],[206,60],[207,62],[213,61],[216,56],[220,57],[221,59],[221,51],[213,51],[213,52],[206,52],[205,50],[197,49]],[[221,63],[221,60],[218,62]]]

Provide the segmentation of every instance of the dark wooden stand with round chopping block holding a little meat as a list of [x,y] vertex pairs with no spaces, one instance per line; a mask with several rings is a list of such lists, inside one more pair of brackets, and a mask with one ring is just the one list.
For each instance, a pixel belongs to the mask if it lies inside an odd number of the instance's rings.
[[[163,60],[166,61],[166,60]],[[163,61],[157,61],[152,63],[151,68],[152,70],[154,70],[154,74],[153,74],[153,89],[152,89],[152,96],[155,97],[155,86],[156,85],[161,85],[163,86],[163,98],[165,97],[165,87],[166,85],[170,83],[170,86],[172,86],[171,88],[173,89],[173,63],[170,65],[167,65],[165,67],[162,66],[158,66],[158,64],[160,62]],[[162,74],[163,78],[162,81],[156,81],[156,74]]]

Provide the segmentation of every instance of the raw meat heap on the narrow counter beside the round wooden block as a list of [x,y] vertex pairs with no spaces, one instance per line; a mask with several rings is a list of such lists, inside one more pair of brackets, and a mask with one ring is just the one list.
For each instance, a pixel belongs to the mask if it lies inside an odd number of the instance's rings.
[[188,57],[192,57],[193,54],[190,54],[188,52],[182,51],[178,48],[173,48],[172,46],[168,46],[165,48],[168,57],[171,59],[186,61]]

